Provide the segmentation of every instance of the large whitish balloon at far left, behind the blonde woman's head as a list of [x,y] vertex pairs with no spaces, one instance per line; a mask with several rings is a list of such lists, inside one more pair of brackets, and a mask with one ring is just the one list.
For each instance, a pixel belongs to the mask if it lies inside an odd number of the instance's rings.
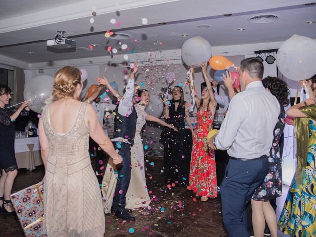
[[24,100],[30,100],[28,107],[41,114],[45,101],[51,96],[53,91],[54,78],[41,75],[33,78],[24,87]]

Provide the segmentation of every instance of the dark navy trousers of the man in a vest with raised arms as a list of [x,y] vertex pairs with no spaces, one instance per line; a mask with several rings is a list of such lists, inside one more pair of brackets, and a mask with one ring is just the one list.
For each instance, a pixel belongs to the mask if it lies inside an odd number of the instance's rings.
[[[115,149],[118,149],[117,143],[112,142]],[[130,182],[131,160],[130,160],[130,144],[121,142],[121,148],[118,149],[118,154],[123,158],[123,162],[117,165],[118,181],[115,186],[112,208],[115,211],[122,211],[126,206],[126,193]]]

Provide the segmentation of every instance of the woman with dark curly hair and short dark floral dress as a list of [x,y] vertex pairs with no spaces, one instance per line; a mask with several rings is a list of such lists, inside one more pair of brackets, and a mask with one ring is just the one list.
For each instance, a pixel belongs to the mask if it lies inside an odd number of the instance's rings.
[[282,194],[282,158],[280,156],[279,140],[285,126],[284,106],[289,104],[289,88],[285,81],[276,77],[266,77],[262,80],[263,86],[273,94],[280,103],[281,111],[276,123],[270,149],[269,169],[262,184],[255,190],[252,199],[252,224],[254,236],[263,237],[265,220],[272,237],[277,237],[276,213],[269,200],[280,197]]

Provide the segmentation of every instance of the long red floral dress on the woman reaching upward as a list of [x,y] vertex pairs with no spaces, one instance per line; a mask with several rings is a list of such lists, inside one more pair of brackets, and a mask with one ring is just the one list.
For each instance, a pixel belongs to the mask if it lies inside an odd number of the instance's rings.
[[197,111],[197,126],[193,133],[188,189],[200,196],[217,197],[214,150],[207,146],[207,134],[213,129],[210,110]]

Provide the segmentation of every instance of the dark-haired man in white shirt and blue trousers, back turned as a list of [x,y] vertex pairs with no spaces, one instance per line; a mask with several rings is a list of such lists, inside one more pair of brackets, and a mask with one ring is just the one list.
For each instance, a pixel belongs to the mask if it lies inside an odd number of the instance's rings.
[[[265,90],[263,64],[256,58],[241,61],[241,91],[231,102],[212,149],[230,156],[221,184],[223,222],[230,237],[249,237],[245,205],[268,171],[268,156],[280,105]],[[230,77],[230,75],[228,76]]]

